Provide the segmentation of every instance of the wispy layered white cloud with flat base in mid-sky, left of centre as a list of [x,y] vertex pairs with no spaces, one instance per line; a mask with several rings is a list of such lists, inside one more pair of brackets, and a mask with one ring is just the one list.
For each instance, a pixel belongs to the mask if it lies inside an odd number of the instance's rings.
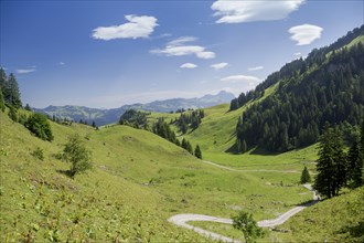
[[193,36],[183,36],[167,43],[164,49],[151,50],[152,54],[162,54],[167,56],[195,55],[199,59],[214,59],[215,53],[206,51],[204,46],[188,45],[185,43],[196,41]]

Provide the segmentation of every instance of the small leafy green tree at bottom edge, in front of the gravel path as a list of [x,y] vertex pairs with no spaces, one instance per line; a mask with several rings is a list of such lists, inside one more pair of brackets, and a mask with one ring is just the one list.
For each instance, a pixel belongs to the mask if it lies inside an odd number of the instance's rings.
[[238,215],[233,216],[233,226],[243,232],[245,242],[254,242],[255,239],[264,236],[263,229],[248,212],[240,211]]

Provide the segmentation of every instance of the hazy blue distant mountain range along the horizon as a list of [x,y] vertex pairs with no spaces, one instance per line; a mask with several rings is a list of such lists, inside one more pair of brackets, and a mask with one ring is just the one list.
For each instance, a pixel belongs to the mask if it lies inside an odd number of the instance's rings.
[[128,109],[142,109],[156,113],[170,113],[184,108],[205,108],[218,104],[229,103],[235,96],[222,91],[216,95],[205,95],[201,98],[172,98],[156,101],[147,104],[124,105],[119,108],[98,109],[85,106],[47,106],[45,108],[33,108],[34,112],[43,113],[58,118],[68,118],[75,122],[81,119],[87,123],[95,122],[97,126],[117,123],[120,116]]

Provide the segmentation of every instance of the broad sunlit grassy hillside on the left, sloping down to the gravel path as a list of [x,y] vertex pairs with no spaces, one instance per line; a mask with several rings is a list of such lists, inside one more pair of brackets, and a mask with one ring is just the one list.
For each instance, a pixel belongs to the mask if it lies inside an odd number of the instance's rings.
[[[51,123],[55,140],[46,142],[0,116],[1,242],[204,241],[167,219],[245,209],[260,220],[310,199],[297,173],[227,171],[144,130]],[[93,151],[94,169],[72,180],[54,155],[74,133]],[[43,161],[31,155],[38,147]]]

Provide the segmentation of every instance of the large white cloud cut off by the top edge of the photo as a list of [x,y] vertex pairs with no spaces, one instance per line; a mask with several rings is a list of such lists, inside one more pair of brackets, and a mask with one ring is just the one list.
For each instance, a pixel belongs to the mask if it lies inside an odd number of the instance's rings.
[[216,23],[243,23],[285,19],[303,2],[304,0],[217,0],[211,6],[211,9],[215,11],[215,17],[220,17]]

